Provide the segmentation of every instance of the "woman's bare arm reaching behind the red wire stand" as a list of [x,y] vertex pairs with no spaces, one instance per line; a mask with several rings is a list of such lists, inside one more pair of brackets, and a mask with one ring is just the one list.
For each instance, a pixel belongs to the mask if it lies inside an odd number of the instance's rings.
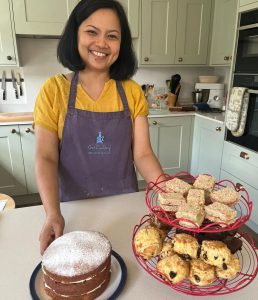
[[152,151],[147,117],[138,116],[134,124],[133,156],[137,170],[148,183],[163,174],[161,165]]

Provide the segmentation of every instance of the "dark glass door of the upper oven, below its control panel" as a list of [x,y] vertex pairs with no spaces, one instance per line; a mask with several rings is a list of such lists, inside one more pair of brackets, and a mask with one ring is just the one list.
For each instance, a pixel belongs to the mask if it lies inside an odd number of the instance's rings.
[[256,73],[258,66],[258,24],[239,28],[235,73]]

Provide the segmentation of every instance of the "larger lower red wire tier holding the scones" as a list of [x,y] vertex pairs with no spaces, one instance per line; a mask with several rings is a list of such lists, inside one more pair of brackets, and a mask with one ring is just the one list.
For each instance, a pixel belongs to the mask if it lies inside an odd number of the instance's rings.
[[[235,237],[242,240],[242,249],[237,251],[235,254],[241,265],[240,272],[232,279],[224,280],[217,278],[215,282],[208,286],[196,286],[193,285],[188,279],[180,282],[178,284],[172,284],[165,281],[161,274],[156,270],[156,265],[158,262],[158,257],[154,257],[150,260],[145,260],[141,256],[138,256],[136,253],[134,245],[134,237],[137,231],[146,225],[150,220],[149,216],[144,216],[139,225],[134,227],[133,237],[132,237],[132,248],[136,260],[141,265],[141,267],[153,276],[156,280],[160,281],[162,284],[165,284],[183,294],[193,295],[193,296],[219,296],[224,294],[230,294],[236,291],[239,291],[249,285],[255,278],[258,272],[258,255],[257,249],[254,246],[254,243],[248,235],[243,233],[237,233]],[[168,234],[168,238],[171,238],[175,232],[175,229],[171,229]]]

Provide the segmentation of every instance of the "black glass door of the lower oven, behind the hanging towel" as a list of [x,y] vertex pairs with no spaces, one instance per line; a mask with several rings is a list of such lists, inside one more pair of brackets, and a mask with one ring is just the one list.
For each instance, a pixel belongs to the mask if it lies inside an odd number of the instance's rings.
[[258,152],[258,90],[250,93],[245,132],[235,137],[227,130],[226,140]]

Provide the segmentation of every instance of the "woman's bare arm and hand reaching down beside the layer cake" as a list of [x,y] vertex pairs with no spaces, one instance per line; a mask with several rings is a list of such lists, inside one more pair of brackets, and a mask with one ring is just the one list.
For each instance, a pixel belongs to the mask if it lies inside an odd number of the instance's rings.
[[60,211],[58,187],[59,140],[57,134],[43,127],[35,127],[36,178],[40,197],[46,212],[46,221],[40,233],[40,252],[63,234],[64,218]]

